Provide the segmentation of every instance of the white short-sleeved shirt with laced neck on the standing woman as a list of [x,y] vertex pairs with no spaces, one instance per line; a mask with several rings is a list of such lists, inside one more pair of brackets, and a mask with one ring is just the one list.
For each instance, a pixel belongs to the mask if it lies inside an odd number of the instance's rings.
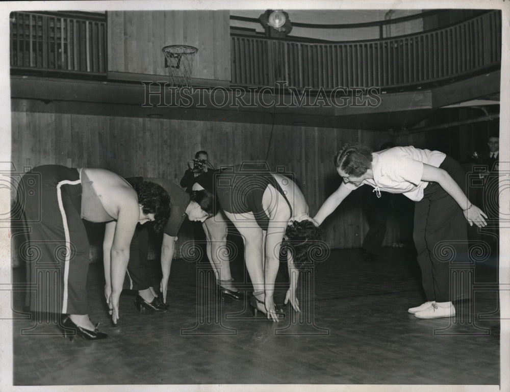
[[[379,191],[402,193],[411,200],[420,201],[428,185],[427,181],[421,180],[423,164],[439,167],[446,154],[406,146],[373,152],[372,157],[374,178],[364,180],[362,185],[368,184]],[[349,183],[344,185],[351,190],[358,188]]]

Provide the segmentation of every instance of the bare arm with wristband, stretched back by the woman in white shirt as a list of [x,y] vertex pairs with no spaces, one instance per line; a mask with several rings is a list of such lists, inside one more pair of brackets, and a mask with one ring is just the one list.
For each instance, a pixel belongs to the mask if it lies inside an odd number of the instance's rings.
[[455,180],[451,178],[446,170],[423,164],[423,174],[421,179],[422,181],[437,182],[441,188],[443,188],[445,192],[448,193],[462,208],[464,216],[470,226],[472,226],[473,223],[478,227],[487,225],[487,222],[483,219],[487,218],[487,215],[469,201],[467,196],[464,194],[464,191],[457,185]]

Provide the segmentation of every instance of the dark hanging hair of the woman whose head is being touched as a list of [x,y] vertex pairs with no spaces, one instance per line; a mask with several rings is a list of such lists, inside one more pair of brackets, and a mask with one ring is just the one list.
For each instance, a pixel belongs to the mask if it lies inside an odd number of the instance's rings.
[[312,264],[313,260],[310,260],[309,251],[312,246],[317,246],[321,242],[320,228],[309,220],[293,221],[287,226],[285,234],[287,239],[282,241],[284,254],[292,252],[297,268],[304,264]]

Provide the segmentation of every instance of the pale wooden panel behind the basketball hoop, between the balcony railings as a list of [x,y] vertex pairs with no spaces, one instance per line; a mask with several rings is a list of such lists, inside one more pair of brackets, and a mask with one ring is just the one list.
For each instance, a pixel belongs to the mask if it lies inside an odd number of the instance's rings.
[[230,81],[228,11],[108,12],[108,71],[166,75],[161,48],[198,48],[192,77]]

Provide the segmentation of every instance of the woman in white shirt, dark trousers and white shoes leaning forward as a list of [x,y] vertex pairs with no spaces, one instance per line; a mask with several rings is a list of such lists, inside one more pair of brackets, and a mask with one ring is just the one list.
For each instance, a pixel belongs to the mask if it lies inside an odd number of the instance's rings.
[[466,195],[461,166],[440,151],[394,147],[372,152],[370,147],[347,143],[335,157],[343,183],[320,207],[315,220],[320,224],[349,193],[368,184],[381,191],[402,193],[416,201],[414,241],[427,301],[409,308],[420,319],[450,317],[455,308],[450,298],[449,265],[438,259],[437,246],[454,247],[454,262],[467,262],[467,227],[486,225],[487,216]]

